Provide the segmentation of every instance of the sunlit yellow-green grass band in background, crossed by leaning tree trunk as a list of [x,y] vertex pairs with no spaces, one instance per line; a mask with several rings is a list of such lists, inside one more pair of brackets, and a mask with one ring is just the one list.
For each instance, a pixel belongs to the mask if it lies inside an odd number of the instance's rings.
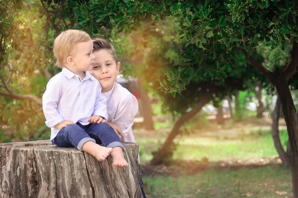
[[[281,141],[287,145],[287,130],[281,130]],[[200,137],[183,136],[178,140],[179,144],[174,151],[174,160],[201,160],[208,158],[209,161],[220,161],[226,159],[250,159],[261,157],[277,157],[278,153],[274,147],[271,131],[251,131],[248,134],[239,133],[235,138],[227,136]],[[142,162],[149,162],[152,151],[155,151],[164,138],[140,138],[140,156]],[[176,141],[177,142],[177,141]]]

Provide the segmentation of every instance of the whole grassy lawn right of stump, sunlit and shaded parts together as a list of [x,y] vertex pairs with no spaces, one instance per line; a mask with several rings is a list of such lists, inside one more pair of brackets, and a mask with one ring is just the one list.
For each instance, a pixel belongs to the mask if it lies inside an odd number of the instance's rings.
[[[165,126],[169,126],[168,124]],[[280,127],[281,141],[287,144],[287,130]],[[146,164],[167,137],[170,128],[159,128],[146,135],[136,133],[140,144],[141,163]],[[238,123],[233,127],[204,131],[176,138],[173,160],[209,163],[205,169],[172,170],[172,173],[146,172],[143,176],[148,198],[286,198],[292,196],[291,171],[280,164],[240,165],[240,168],[221,168],[221,162],[278,157],[270,126]],[[238,164],[239,165],[239,164]],[[169,165],[170,166],[170,165]],[[163,167],[164,168],[164,167]],[[162,172],[162,168],[159,173]],[[153,169],[153,170],[154,170]],[[189,168],[185,168],[189,169]]]

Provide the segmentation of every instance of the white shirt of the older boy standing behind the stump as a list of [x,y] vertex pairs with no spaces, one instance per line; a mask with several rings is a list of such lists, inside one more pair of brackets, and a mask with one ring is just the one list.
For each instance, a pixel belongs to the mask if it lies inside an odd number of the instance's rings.
[[109,92],[103,94],[107,98],[108,121],[121,128],[125,142],[136,142],[132,130],[135,115],[139,110],[136,97],[116,82]]

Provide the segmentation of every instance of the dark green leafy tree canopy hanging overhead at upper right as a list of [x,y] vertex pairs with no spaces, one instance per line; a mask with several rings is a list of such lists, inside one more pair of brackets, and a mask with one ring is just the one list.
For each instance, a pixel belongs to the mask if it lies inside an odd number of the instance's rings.
[[[76,28],[91,33],[102,26],[115,25],[119,32],[130,33],[140,27],[141,21],[151,17],[155,20],[175,17],[179,26],[176,40],[185,48],[177,64],[181,68],[168,74],[165,83],[161,82],[166,93],[184,90],[193,75],[203,75],[205,80],[223,80],[227,77],[225,68],[231,56],[242,49],[252,55],[256,54],[256,46],[263,45],[287,53],[292,42],[298,40],[298,4],[290,0],[94,0],[86,3],[73,0],[70,7],[75,10]],[[197,73],[184,66],[196,66]],[[283,66],[264,63],[263,67],[274,71]],[[182,71],[189,75],[181,79]]]

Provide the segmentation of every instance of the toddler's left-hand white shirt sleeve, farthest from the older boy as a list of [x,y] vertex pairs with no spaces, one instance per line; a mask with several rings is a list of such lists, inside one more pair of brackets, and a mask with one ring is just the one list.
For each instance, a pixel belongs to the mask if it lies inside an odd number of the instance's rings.
[[46,117],[46,125],[54,127],[64,120],[59,114],[57,107],[62,93],[62,83],[51,79],[47,85],[46,92],[42,96],[42,108]]

